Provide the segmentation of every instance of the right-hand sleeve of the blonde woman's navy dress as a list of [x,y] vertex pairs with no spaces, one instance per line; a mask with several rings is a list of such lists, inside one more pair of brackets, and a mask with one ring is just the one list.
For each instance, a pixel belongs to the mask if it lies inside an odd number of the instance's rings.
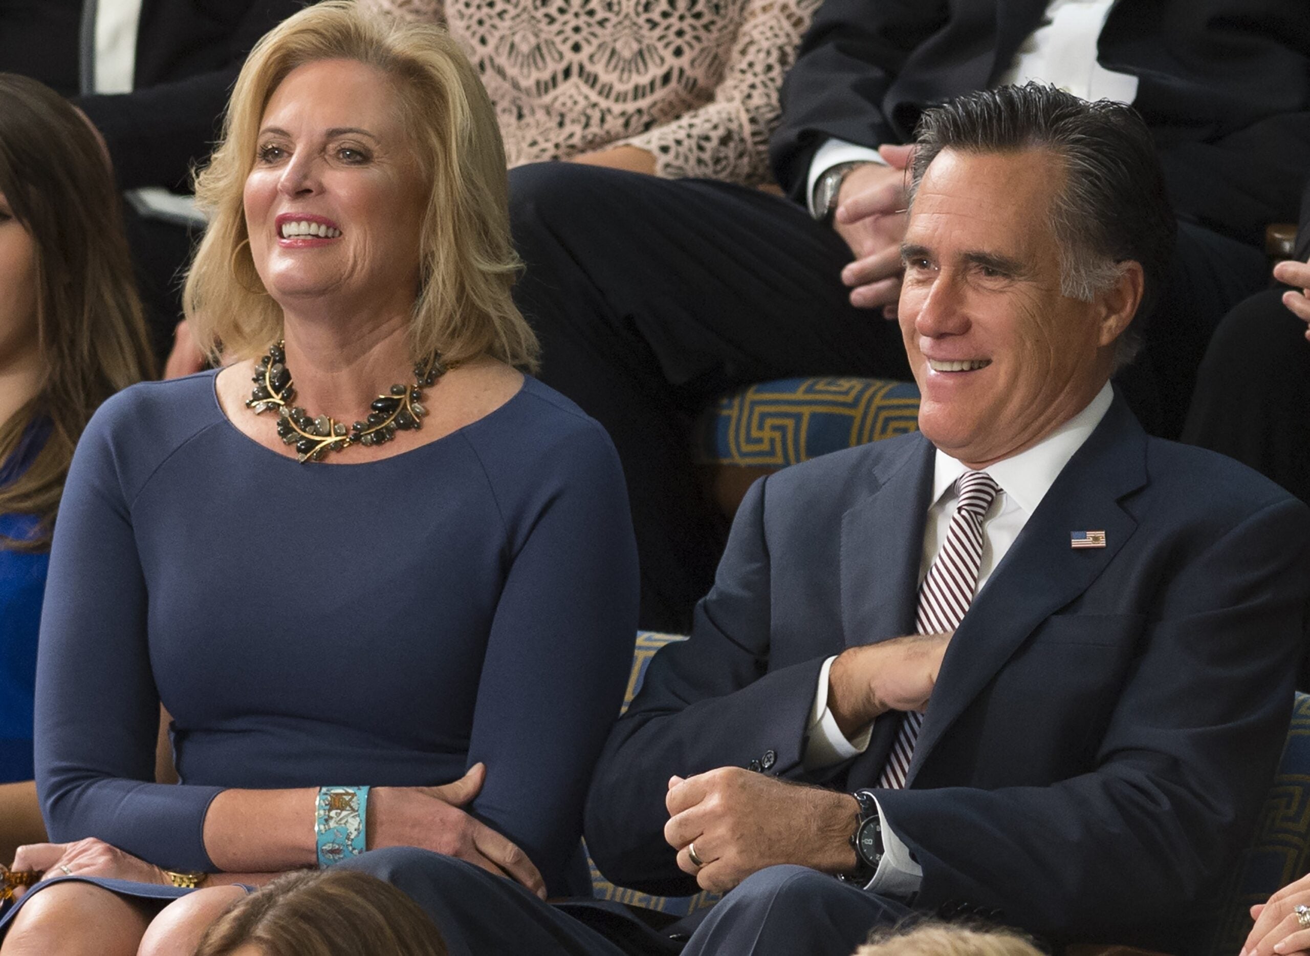
[[483,467],[493,488],[529,484],[540,497],[508,556],[482,664],[469,763],[485,762],[487,780],[473,809],[558,894],[631,665],[637,544],[618,456],[595,422],[540,456],[507,448]]

